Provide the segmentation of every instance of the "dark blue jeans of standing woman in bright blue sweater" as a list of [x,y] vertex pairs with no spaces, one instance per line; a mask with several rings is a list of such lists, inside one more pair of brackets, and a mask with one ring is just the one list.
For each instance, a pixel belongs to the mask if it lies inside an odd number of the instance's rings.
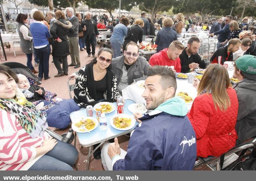
[[51,47],[48,44],[46,47],[41,49],[35,49],[36,57],[39,59],[38,77],[39,79],[44,79],[49,77],[49,57],[51,52]]

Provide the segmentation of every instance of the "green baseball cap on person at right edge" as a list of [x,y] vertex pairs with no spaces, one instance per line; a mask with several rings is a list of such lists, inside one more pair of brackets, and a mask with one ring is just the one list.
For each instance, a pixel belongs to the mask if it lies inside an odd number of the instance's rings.
[[243,55],[236,59],[236,67],[241,70],[248,79],[256,80],[256,57]]

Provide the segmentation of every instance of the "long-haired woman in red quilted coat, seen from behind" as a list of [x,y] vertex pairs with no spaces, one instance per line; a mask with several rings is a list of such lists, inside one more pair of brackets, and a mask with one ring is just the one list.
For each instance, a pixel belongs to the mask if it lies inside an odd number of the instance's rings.
[[236,144],[236,91],[220,64],[209,65],[194,87],[197,97],[187,116],[196,132],[197,156],[220,156]]

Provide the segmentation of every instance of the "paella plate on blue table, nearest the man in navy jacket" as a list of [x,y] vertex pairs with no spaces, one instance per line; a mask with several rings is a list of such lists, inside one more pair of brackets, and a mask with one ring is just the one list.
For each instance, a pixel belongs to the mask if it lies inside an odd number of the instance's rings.
[[127,114],[118,114],[110,120],[110,125],[121,131],[130,130],[135,126],[136,120]]

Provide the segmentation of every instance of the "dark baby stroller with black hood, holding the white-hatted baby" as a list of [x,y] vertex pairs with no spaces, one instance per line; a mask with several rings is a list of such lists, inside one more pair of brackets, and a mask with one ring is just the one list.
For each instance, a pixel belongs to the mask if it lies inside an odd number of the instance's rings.
[[[3,63],[3,65],[8,66],[9,68],[11,68],[12,71],[15,72],[16,74],[20,73],[20,74],[25,75],[28,78],[30,84],[31,83],[32,84],[37,84],[37,85],[41,84],[41,80],[35,74],[33,74],[31,72],[31,70],[26,65],[23,65],[23,64],[20,64],[20,63],[17,63],[17,62],[5,62],[5,63]],[[56,96],[56,94],[54,96]],[[49,128],[47,128],[45,131],[48,132],[48,134],[51,135],[56,140],[60,140],[60,141],[63,141],[65,143],[71,143],[74,139],[74,133],[73,133],[72,128],[70,128],[69,131],[68,131],[69,133],[72,133],[71,136],[68,136],[69,138],[66,137],[66,135],[68,133],[63,133],[62,135],[59,135],[56,132],[53,132],[52,130],[50,130]]]

